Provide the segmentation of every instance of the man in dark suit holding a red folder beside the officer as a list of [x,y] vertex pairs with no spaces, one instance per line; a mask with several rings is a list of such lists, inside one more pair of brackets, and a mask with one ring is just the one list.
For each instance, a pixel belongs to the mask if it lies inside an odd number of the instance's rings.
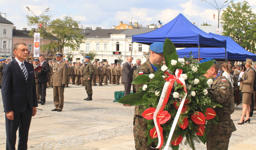
[[41,105],[45,104],[45,96],[46,96],[46,86],[48,82],[48,73],[50,72],[50,66],[48,62],[45,61],[44,55],[39,56],[40,66],[44,66],[41,70],[38,70],[38,87],[40,94],[40,102]]

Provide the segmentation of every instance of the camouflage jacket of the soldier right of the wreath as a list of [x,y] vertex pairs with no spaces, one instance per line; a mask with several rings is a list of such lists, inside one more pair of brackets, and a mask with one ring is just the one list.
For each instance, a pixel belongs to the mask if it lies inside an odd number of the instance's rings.
[[222,105],[222,108],[214,108],[216,115],[219,116],[219,123],[212,125],[208,134],[227,134],[236,131],[233,120],[227,119],[235,110],[231,82],[224,76],[218,76],[213,80],[209,93],[215,102]]

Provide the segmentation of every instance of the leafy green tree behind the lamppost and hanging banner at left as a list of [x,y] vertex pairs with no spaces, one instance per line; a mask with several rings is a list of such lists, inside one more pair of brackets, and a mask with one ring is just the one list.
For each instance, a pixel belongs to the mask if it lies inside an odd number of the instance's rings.
[[[80,34],[79,23],[71,17],[65,16],[63,19],[50,21],[51,16],[42,15],[37,20],[35,16],[27,15],[28,26],[38,25],[38,31],[42,38],[49,39],[50,43],[42,45],[42,51],[54,50],[63,53],[64,47],[70,47],[71,50],[78,50],[80,43],[84,43],[84,36]],[[49,25],[48,25],[49,24]],[[33,36],[35,31],[30,31]]]

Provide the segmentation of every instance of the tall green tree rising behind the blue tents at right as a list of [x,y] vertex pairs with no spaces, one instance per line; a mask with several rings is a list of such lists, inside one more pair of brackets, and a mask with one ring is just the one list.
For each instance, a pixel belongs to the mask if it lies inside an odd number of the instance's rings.
[[231,2],[231,6],[223,10],[221,19],[224,36],[230,36],[248,51],[256,51],[256,15],[247,1]]

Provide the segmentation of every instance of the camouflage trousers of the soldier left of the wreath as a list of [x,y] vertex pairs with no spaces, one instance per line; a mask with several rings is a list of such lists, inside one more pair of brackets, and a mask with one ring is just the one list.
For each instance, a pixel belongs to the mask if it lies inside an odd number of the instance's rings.
[[147,123],[144,121],[142,116],[134,115],[133,126],[133,136],[136,150],[159,150],[151,148],[156,147],[154,142],[147,146],[147,138],[145,137]]

